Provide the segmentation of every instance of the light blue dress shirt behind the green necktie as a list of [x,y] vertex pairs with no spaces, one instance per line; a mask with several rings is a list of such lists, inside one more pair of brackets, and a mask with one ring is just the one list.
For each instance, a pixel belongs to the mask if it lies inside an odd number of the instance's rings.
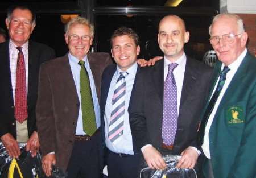
[[[81,110],[81,94],[80,94],[80,70],[81,66],[78,64],[79,59],[77,59],[75,56],[71,55],[71,53],[68,53],[68,60],[69,64],[71,67],[73,79],[76,85],[76,92],[77,96],[79,97],[79,116],[77,120],[77,125],[76,125],[76,135],[85,135],[86,133],[84,132],[83,126],[82,126],[82,110]],[[96,92],[96,86],[94,84],[93,80],[93,75],[92,71],[90,70],[90,65],[88,62],[87,55],[82,59],[85,61],[85,69],[88,72],[89,80],[90,80],[90,89],[92,90],[92,98],[93,98],[93,107],[95,111],[95,118],[96,118],[96,125],[97,128],[100,127],[100,105],[98,103],[98,97],[97,97],[97,92]]]

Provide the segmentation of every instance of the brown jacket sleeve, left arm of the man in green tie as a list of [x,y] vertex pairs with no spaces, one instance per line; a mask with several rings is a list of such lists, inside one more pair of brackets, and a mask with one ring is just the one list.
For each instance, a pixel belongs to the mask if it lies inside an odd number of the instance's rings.
[[55,151],[55,136],[53,136],[55,135],[55,120],[53,115],[51,81],[49,80],[48,74],[46,65],[42,64],[39,72],[36,125],[38,126],[38,135],[43,155]]

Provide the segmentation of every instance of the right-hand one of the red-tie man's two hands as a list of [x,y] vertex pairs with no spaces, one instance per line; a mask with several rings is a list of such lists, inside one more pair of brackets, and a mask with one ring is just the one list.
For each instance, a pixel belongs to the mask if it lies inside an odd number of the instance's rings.
[[30,151],[31,156],[34,157],[39,151],[39,146],[38,132],[34,131],[27,141],[26,151]]

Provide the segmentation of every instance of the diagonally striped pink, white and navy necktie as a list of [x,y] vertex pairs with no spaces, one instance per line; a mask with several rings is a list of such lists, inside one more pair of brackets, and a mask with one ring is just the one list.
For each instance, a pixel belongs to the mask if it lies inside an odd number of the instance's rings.
[[115,84],[114,96],[112,98],[112,112],[109,123],[109,140],[113,143],[123,135],[123,122],[125,116],[125,77],[127,72],[120,72]]

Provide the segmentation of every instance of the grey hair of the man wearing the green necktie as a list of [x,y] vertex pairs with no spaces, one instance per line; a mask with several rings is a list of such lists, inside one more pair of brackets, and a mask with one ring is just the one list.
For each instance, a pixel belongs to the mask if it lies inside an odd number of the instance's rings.
[[67,34],[67,32],[70,30],[71,26],[75,25],[75,24],[82,24],[82,25],[86,25],[90,28],[90,35],[94,35],[94,26],[93,24],[91,24],[89,22],[88,19],[83,18],[81,16],[78,16],[76,18],[71,19],[65,26],[65,33]]

